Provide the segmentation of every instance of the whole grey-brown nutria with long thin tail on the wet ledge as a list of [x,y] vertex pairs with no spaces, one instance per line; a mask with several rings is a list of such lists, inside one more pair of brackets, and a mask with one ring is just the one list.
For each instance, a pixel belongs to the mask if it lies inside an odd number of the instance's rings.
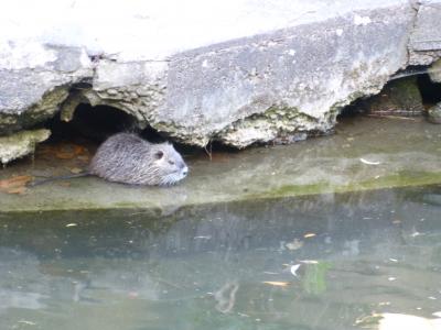
[[136,134],[118,133],[98,147],[87,172],[44,179],[32,186],[88,175],[129,185],[170,186],[187,173],[182,156],[170,143],[153,144]]

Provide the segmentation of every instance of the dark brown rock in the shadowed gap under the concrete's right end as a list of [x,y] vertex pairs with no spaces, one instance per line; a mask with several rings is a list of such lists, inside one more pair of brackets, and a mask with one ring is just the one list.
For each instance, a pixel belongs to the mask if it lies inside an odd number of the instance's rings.
[[392,80],[381,92],[363,102],[366,112],[376,116],[421,116],[424,111],[416,77]]

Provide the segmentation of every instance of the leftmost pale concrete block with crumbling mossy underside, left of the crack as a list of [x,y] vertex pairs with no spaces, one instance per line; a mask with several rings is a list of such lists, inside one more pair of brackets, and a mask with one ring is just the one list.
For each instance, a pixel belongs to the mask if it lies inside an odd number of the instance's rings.
[[53,117],[69,88],[92,76],[82,48],[0,40],[0,135]]

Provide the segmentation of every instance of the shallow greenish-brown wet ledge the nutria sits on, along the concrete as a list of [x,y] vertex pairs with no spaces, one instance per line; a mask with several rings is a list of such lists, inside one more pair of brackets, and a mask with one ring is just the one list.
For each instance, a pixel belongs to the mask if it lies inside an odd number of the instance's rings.
[[[21,195],[0,193],[0,210],[142,209],[168,215],[195,205],[441,183],[438,125],[423,118],[342,120],[335,135],[289,146],[218,151],[212,160],[203,152],[184,152],[190,176],[174,187],[73,178],[32,187]],[[61,147],[43,144],[33,162],[14,163],[0,172],[0,179],[76,172],[87,166],[94,147],[82,142]]]

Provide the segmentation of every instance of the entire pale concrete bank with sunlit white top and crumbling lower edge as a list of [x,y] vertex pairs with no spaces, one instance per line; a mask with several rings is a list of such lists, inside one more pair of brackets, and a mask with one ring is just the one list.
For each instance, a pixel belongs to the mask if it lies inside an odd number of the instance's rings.
[[112,106],[141,127],[201,146],[326,133],[342,107],[379,92],[407,65],[439,57],[438,4],[129,0],[106,3],[105,11],[86,0],[1,4],[0,134],[60,108],[69,120],[79,101]]

